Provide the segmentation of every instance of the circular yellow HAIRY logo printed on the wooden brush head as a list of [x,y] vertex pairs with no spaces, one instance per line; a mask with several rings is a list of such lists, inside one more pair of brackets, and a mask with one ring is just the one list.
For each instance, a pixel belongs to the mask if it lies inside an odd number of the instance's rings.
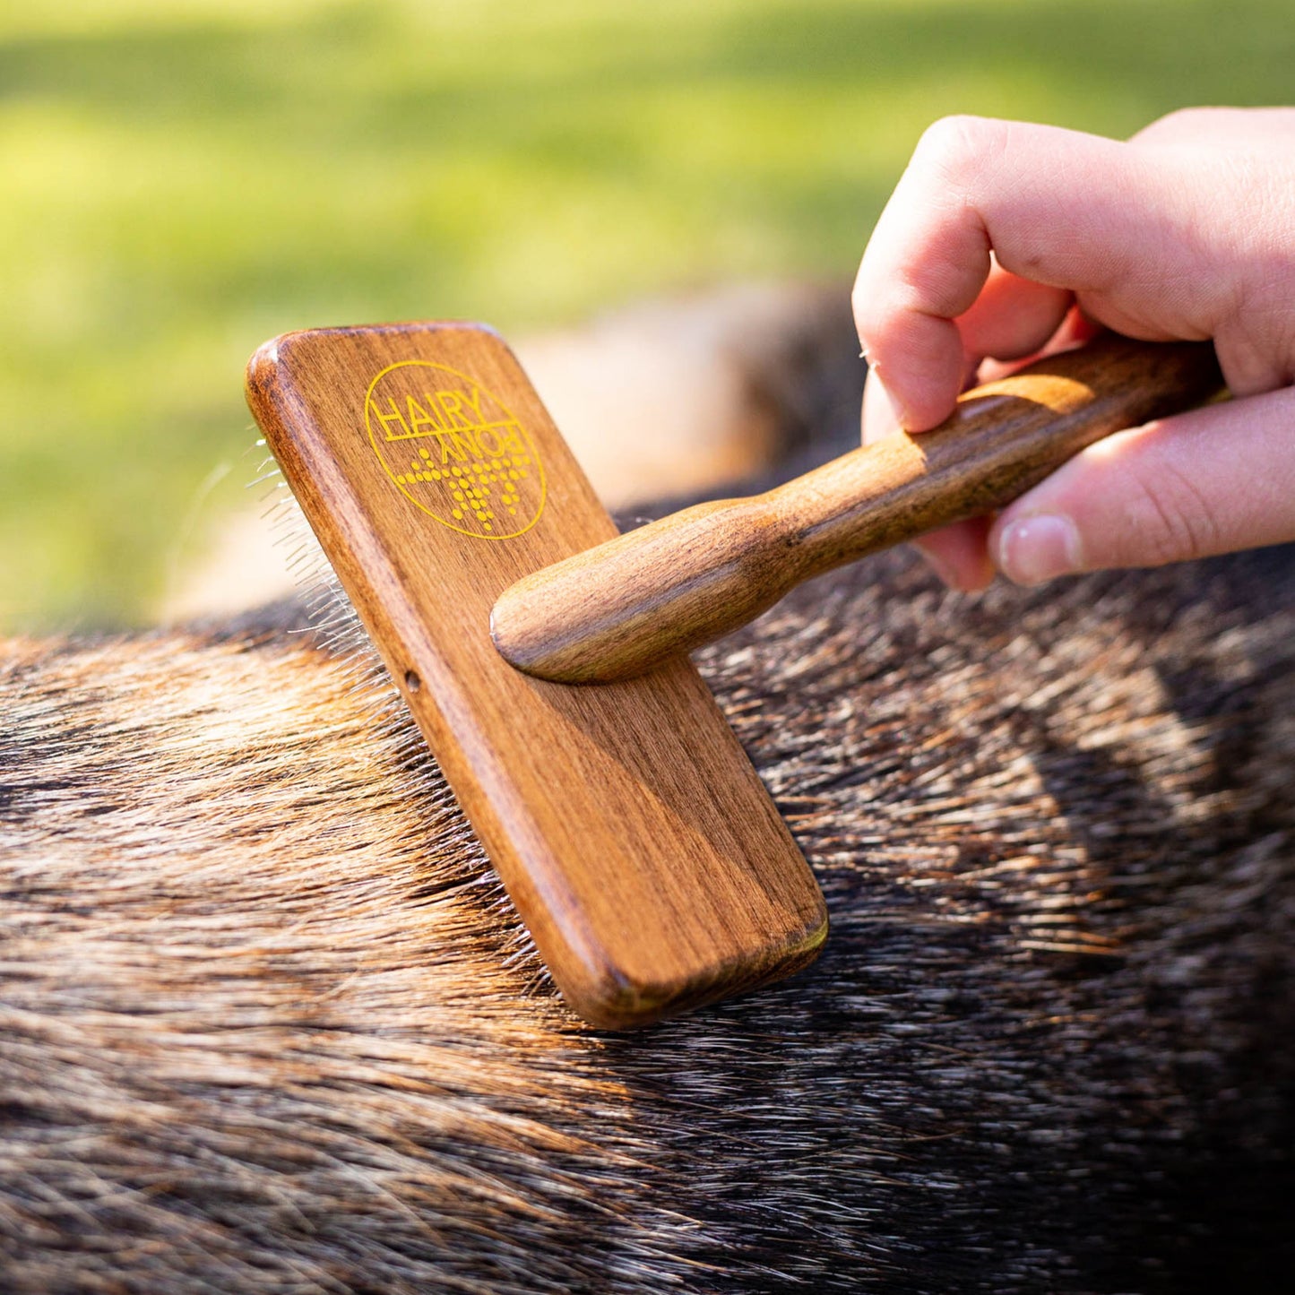
[[369,443],[401,495],[442,526],[510,540],[544,510],[544,465],[499,396],[427,360],[385,368],[364,398]]

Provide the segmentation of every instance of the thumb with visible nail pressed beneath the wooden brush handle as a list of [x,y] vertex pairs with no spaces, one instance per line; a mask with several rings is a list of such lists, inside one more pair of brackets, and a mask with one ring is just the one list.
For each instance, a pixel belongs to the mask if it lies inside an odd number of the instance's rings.
[[1089,445],[989,534],[1009,579],[1040,584],[1295,539],[1295,387],[1150,422]]

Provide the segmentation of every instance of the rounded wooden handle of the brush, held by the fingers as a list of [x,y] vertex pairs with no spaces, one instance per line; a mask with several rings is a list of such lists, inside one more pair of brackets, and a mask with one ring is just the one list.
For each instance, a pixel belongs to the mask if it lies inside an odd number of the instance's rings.
[[518,670],[544,679],[642,673],[811,576],[1004,508],[1094,440],[1221,386],[1208,342],[1103,335],[969,391],[932,431],[888,436],[765,495],[698,504],[536,571],[495,603],[491,635]]

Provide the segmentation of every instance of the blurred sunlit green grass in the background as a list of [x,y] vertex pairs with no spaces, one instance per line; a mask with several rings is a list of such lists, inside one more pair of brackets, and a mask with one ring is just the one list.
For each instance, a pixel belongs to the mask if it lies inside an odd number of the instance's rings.
[[[0,628],[146,619],[291,328],[846,278],[932,119],[1295,98],[1287,0],[0,12]],[[197,521],[196,521],[197,519]]]

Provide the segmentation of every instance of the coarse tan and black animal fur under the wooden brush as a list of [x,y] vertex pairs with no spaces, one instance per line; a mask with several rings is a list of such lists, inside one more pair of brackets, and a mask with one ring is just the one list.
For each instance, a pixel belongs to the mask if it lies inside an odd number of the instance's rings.
[[704,653],[833,934],[637,1035],[298,615],[8,646],[5,1291],[1286,1289],[1290,550]]

